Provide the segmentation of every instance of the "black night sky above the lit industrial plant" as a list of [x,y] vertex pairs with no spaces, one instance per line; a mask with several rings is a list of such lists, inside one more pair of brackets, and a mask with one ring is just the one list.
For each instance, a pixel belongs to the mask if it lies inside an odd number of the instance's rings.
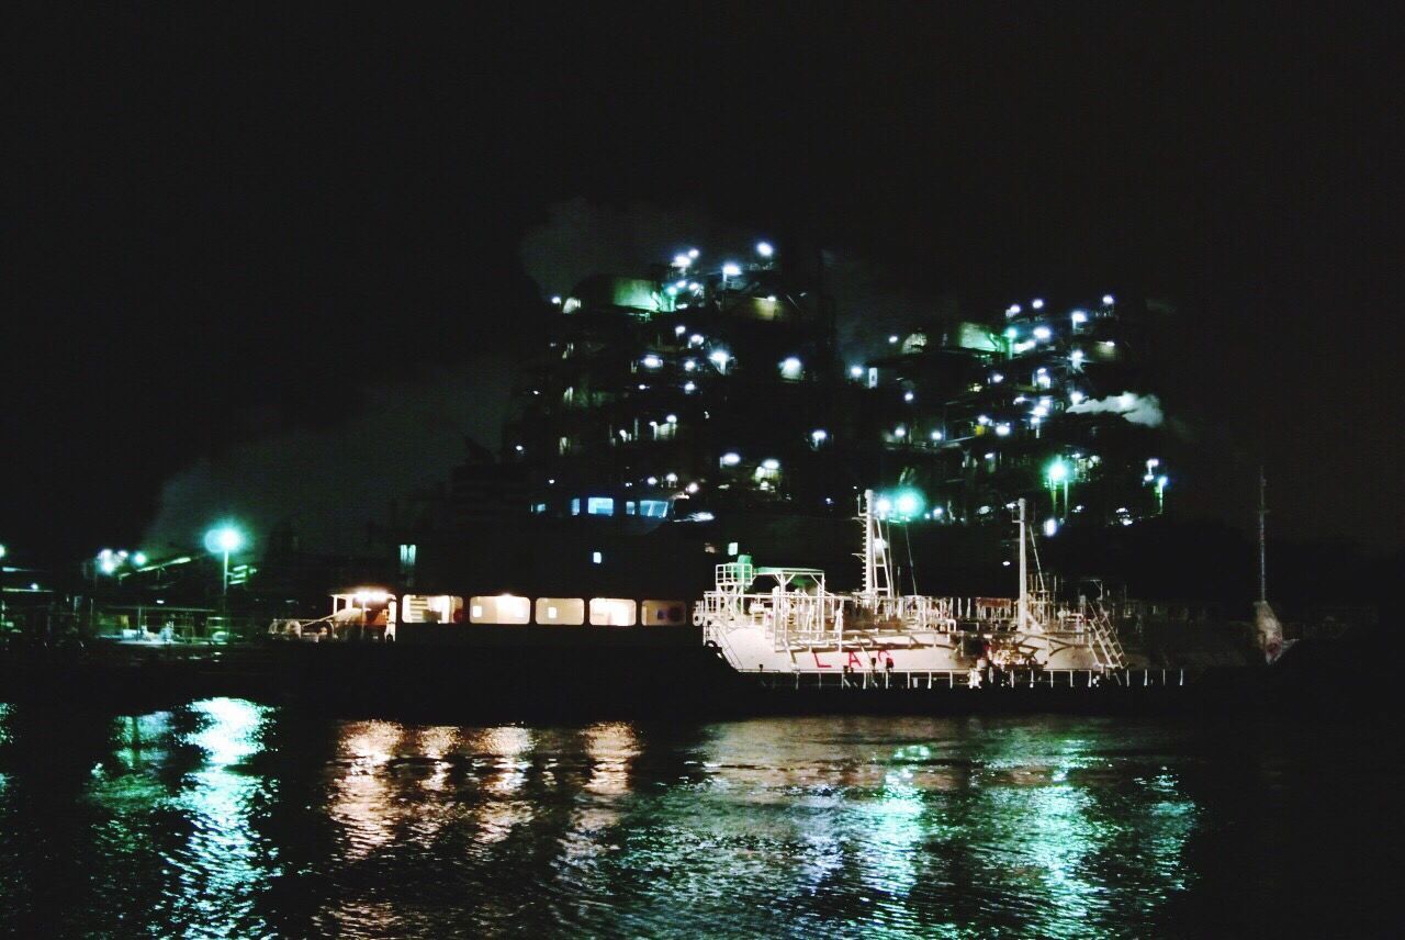
[[0,542],[135,545],[194,462],[476,375],[535,294],[524,235],[584,200],[802,233],[898,291],[1175,298],[1186,511],[1246,524],[1262,452],[1277,531],[1399,548],[1392,25],[762,10],[11,24]]

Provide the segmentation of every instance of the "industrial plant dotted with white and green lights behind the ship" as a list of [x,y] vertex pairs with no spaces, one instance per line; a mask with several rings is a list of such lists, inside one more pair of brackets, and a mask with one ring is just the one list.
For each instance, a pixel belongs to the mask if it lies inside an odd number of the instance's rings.
[[711,267],[680,253],[554,298],[503,447],[532,513],[844,516],[864,488],[902,488],[894,511],[939,524],[1028,496],[1050,534],[1162,511],[1159,402],[1141,386],[1141,323],[1113,296],[1013,303],[840,363],[813,278],[757,249]]

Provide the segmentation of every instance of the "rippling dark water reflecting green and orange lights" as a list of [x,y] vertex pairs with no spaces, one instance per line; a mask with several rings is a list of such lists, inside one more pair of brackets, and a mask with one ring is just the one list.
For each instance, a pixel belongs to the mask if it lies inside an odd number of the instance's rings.
[[0,929],[1387,933],[1388,760],[1370,732],[1257,719],[475,728],[229,698],[0,705]]

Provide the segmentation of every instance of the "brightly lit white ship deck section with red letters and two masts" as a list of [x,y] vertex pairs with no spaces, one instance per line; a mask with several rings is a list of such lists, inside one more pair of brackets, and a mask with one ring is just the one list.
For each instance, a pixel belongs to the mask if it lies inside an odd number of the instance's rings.
[[756,568],[739,555],[717,566],[714,590],[694,608],[704,642],[738,672],[815,676],[821,684],[979,684],[993,670],[1125,666],[1117,631],[1096,601],[1061,606],[1047,589],[1023,499],[1016,599],[898,594],[889,524],[874,511],[871,490],[858,521],[863,590],[832,593],[819,569]]

